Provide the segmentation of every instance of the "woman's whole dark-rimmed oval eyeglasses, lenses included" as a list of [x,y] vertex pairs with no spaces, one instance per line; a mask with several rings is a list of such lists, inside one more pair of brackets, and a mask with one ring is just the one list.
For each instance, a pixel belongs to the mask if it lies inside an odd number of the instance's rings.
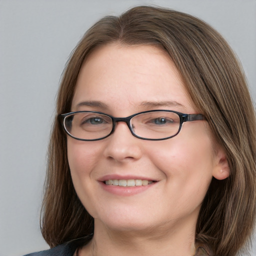
[[60,114],[66,133],[79,140],[99,140],[114,132],[116,122],[126,122],[133,136],[147,140],[174,137],[186,121],[205,120],[202,114],[184,114],[172,110],[150,110],[127,117],[113,117],[97,111]]

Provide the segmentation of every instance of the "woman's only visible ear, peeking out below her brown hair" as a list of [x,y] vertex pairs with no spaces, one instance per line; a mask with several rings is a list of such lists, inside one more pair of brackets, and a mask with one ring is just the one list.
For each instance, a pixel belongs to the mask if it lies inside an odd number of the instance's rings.
[[226,158],[226,154],[221,147],[218,147],[215,154],[215,166],[212,171],[212,176],[216,179],[225,179],[229,176],[230,170]]

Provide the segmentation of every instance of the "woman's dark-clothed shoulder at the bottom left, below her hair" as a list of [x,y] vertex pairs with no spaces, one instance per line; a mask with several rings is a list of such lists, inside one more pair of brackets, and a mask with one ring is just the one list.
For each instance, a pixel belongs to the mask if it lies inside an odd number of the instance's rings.
[[33,252],[26,254],[24,256],[73,256],[77,244],[74,242],[69,242],[61,245],[57,245],[48,250],[42,250],[38,252]]

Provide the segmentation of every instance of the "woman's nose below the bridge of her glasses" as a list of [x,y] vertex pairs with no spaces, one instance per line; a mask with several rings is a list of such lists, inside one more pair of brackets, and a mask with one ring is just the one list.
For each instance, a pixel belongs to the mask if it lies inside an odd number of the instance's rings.
[[142,155],[142,142],[131,134],[125,122],[118,121],[114,132],[106,139],[103,154],[117,162],[139,159]]

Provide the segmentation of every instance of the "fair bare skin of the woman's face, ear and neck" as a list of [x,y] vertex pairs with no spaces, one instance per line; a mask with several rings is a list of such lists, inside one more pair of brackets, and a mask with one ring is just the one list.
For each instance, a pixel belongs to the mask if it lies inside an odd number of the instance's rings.
[[[83,101],[100,104],[77,106]],[[116,43],[89,55],[78,76],[71,111],[126,117],[152,109],[198,113],[165,52]],[[193,255],[196,220],[211,178],[229,174],[223,150],[213,144],[203,120],[185,122],[178,135],[159,141],[132,136],[124,122],[102,140],[67,136],[73,184],[95,221],[94,236],[80,254]],[[116,195],[99,182],[107,174],[139,175],[157,182],[137,194]]]

